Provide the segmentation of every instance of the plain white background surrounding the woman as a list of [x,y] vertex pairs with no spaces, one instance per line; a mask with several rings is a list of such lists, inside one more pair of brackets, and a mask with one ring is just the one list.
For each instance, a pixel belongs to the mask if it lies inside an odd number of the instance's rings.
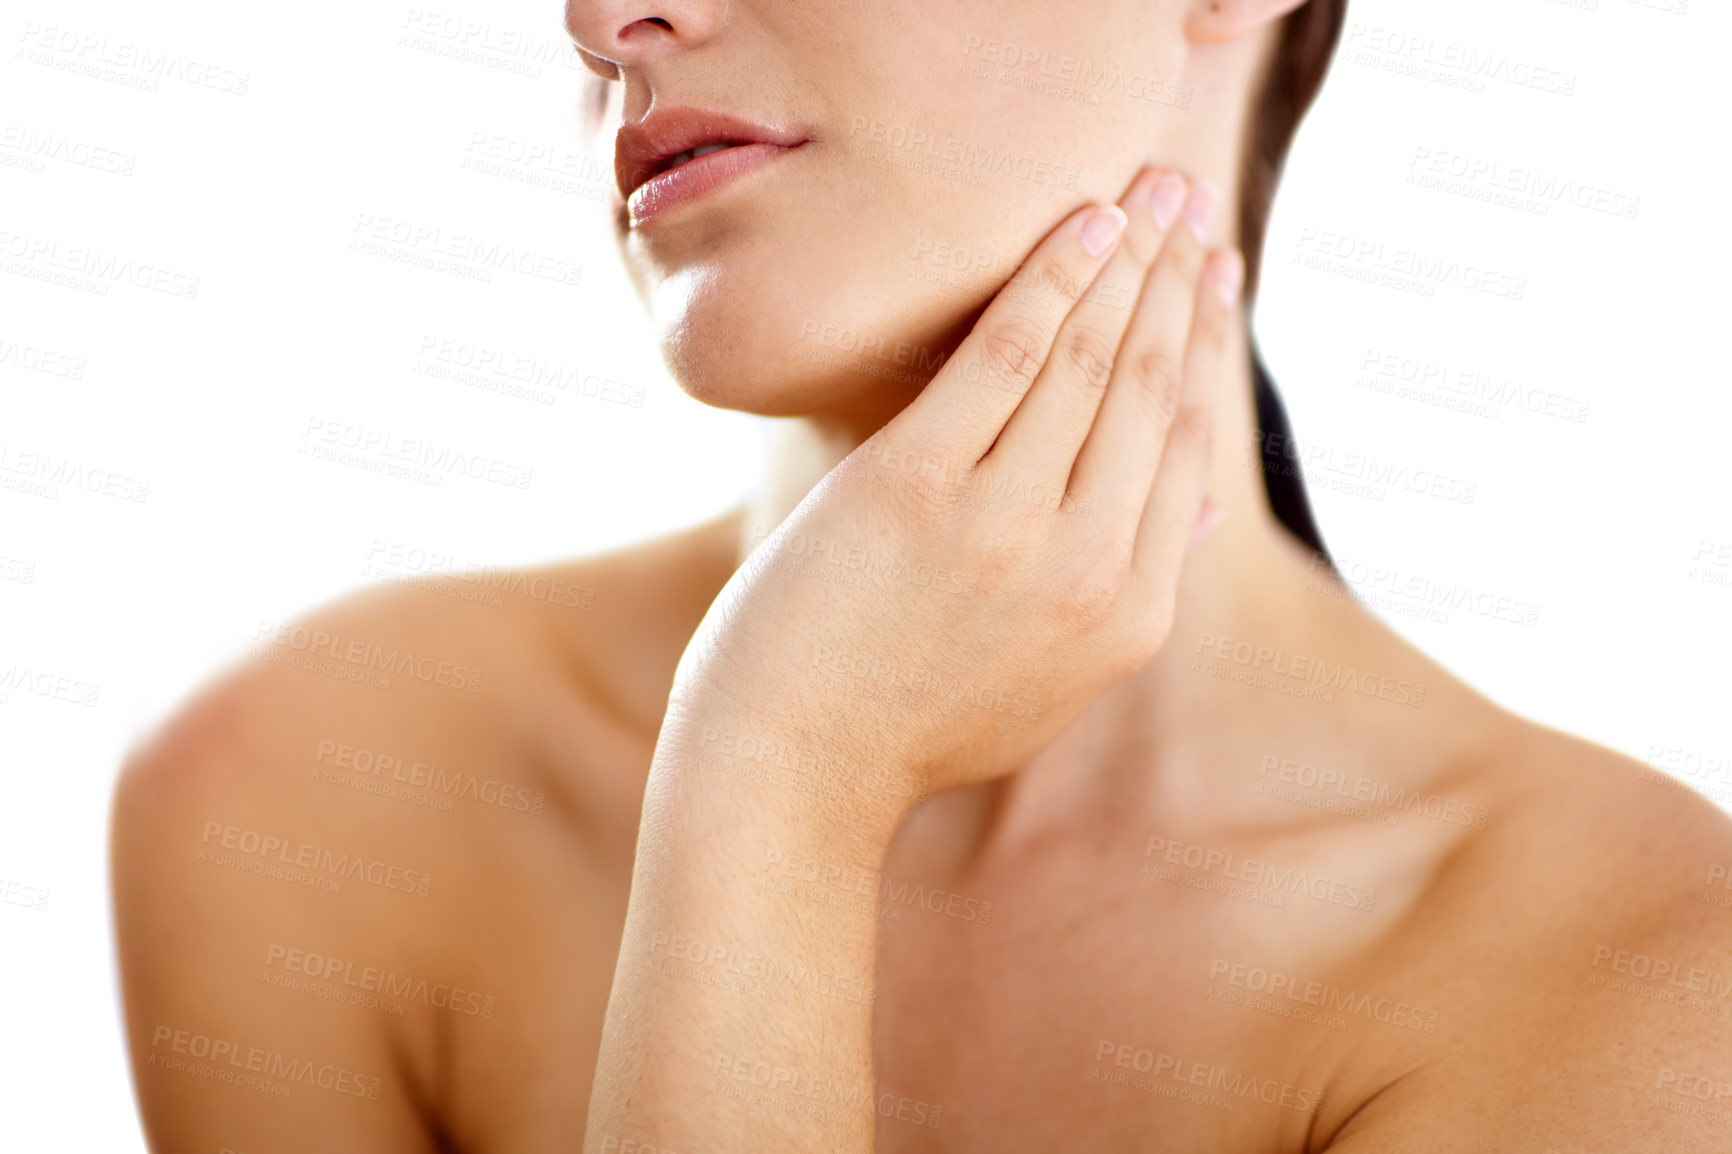
[[[1315,487],[1349,577],[1380,567],[1538,608],[1533,626],[1472,608],[1432,622],[1398,598],[1386,619],[1512,709],[1637,759],[1675,757],[1723,801],[1729,10],[1670,10],[1680,2],[1354,0],[1276,206],[1257,331],[1313,461],[1341,470],[1361,454],[1474,487],[1472,502]],[[7,1149],[142,1149],[107,795],[128,745],[258,622],[355,587],[379,542],[501,565],[570,558],[707,518],[753,480],[760,423],[667,381],[615,267],[598,185],[610,168],[578,154],[584,73],[561,50],[558,5],[442,7],[454,23],[435,28],[456,35],[423,31],[419,45],[404,38],[412,12],[83,0],[0,17],[0,454],[120,475],[123,492],[149,482],[142,502],[0,489],[0,674],[100,686],[90,707],[21,688],[0,703],[0,885],[48,891],[40,911],[0,903]],[[466,42],[464,21],[487,31]],[[523,35],[546,50],[481,47]],[[139,49],[166,68],[121,64]],[[1427,55],[1439,73],[1391,71]],[[1464,88],[1450,62],[1469,55],[1529,85]],[[107,73],[83,71],[104,61]],[[533,75],[506,71],[513,61]],[[1559,76],[1571,94],[1543,90]],[[483,172],[490,149],[539,159]],[[1431,158],[1484,168],[1465,185],[1410,182]],[[1574,192],[1486,203],[1493,177]],[[1593,208],[1595,194],[1637,201],[1635,217]],[[364,218],[518,246],[582,265],[582,279],[478,282],[352,251]],[[1325,270],[1294,263],[1323,248],[1337,253]],[[106,295],[36,279],[80,250]],[[1522,300],[1342,274],[1380,276],[1412,253],[1519,277]],[[109,258],[163,269],[170,291],[104,281]],[[442,341],[644,400],[573,388],[546,405],[440,379],[421,352]],[[1384,352],[1444,364],[1450,381],[1479,374],[1503,399],[1476,414],[1431,404],[1448,395],[1434,386],[1379,393],[1361,366]],[[1587,404],[1587,419],[1524,402]],[[310,421],[533,478],[428,487],[317,461],[300,452]],[[3,459],[0,478],[28,480]]]

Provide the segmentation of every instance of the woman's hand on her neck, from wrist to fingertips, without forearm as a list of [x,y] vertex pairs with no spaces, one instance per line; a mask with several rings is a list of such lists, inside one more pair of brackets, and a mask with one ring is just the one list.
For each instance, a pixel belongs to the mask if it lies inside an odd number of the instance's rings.
[[1244,276],[1204,250],[1212,211],[1211,187],[1143,172],[1058,225],[727,584],[670,719],[947,788],[1013,769],[1147,664]]

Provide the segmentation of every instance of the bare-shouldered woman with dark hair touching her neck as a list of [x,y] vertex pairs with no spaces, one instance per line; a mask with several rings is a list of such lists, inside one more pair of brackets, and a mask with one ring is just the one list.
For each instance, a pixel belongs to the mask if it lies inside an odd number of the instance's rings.
[[158,1149],[1732,1149],[1725,818],[1264,470],[1341,0],[566,16],[675,378],[798,419],[738,515],[357,594],[135,754]]

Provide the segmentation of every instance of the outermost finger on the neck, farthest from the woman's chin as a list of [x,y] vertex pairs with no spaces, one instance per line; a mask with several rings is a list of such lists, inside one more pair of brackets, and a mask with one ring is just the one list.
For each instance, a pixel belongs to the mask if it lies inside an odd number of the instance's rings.
[[1237,251],[1209,258],[1195,293],[1195,319],[1178,399],[1154,487],[1136,527],[1131,556],[1136,586],[1152,603],[1171,598],[1197,528],[1209,482],[1219,381],[1226,376],[1228,343],[1238,333],[1238,289],[1245,262]]

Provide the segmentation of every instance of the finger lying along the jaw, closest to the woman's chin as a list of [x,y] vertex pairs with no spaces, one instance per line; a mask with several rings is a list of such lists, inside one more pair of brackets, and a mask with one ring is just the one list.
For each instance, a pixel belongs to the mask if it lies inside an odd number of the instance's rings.
[[[913,437],[986,456],[1051,353],[1060,322],[1107,263],[1124,210],[1091,204],[1036,246],[925,392],[897,418]],[[1015,289],[1015,291],[1010,291]],[[972,456],[966,456],[972,454]]]

